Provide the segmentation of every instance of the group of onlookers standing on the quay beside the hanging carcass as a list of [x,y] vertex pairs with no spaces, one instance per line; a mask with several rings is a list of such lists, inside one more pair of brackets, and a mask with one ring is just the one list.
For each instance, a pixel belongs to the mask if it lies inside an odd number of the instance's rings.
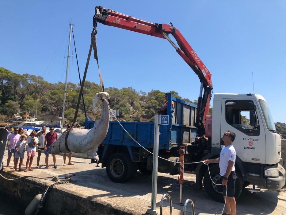
[[[70,129],[71,129],[71,125],[68,124],[67,129],[66,131],[64,131],[64,133],[69,131]],[[28,139],[25,141],[26,137],[28,137]],[[24,172],[27,172],[28,170],[33,171],[31,167],[33,163],[33,158],[34,156],[36,156],[36,147],[38,147],[38,157],[37,157],[36,168],[39,168],[40,157],[41,157],[42,152],[44,152],[44,154],[46,155],[46,159],[45,159],[46,166],[44,167],[44,169],[48,169],[49,167],[51,167],[49,165],[49,154],[51,151],[51,144],[53,144],[57,139],[58,139],[58,134],[54,132],[54,127],[52,126],[50,127],[50,132],[47,132],[46,126],[43,125],[42,130],[40,132],[36,133],[36,131],[32,131],[31,136],[29,136],[27,132],[24,131],[23,128],[14,127],[14,133],[8,135],[9,143],[7,142],[8,159],[7,159],[6,169],[9,168],[9,164],[10,164],[12,154],[13,154],[14,156],[13,169],[15,169],[15,172],[23,171],[21,169],[21,166],[25,166],[25,164],[23,163],[23,160],[24,160],[25,151],[27,151],[27,161],[26,161],[26,168]],[[28,144],[28,147],[26,147],[26,144]],[[56,156],[55,154],[52,154],[52,156],[53,156],[54,168],[57,169],[58,167],[56,165]],[[66,156],[67,156],[66,153],[64,153],[63,154],[63,162],[64,162],[63,166],[66,166]],[[69,165],[73,165],[73,163],[71,162],[71,156],[72,156],[72,153],[70,152],[68,155]],[[20,162],[19,162],[19,158],[20,158]],[[17,169],[18,162],[19,162],[19,168]]]

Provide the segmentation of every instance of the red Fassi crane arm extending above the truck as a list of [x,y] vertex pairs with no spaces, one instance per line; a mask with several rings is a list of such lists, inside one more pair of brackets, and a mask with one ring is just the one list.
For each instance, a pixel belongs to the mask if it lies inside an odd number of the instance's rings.
[[[172,25],[143,21],[141,19],[121,14],[110,9],[105,9],[101,6],[95,7],[95,15],[93,17],[94,28],[97,27],[97,22],[100,22],[104,25],[110,25],[138,33],[151,35],[154,37],[167,39],[176,49],[177,53],[197,74],[200,82],[203,83],[204,96],[199,96],[196,126],[204,128],[204,116],[208,115],[212,91],[211,73],[178,29]],[[179,47],[177,47],[177,45],[172,40],[170,40],[168,36],[169,34],[175,38]]]

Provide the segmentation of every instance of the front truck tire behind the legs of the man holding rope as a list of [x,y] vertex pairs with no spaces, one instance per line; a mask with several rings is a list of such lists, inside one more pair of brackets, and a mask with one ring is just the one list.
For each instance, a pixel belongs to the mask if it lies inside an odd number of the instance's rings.
[[[216,184],[218,184],[219,183],[219,165],[211,166],[210,173],[212,176],[212,180]],[[238,199],[238,197],[240,196],[242,192],[243,182],[242,182],[242,177],[238,171],[236,171],[236,176],[237,176],[237,179],[235,181],[235,199]],[[217,191],[218,189],[217,185],[213,184],[210,179],[208,169],[204,174],[204,189],[206,190],[208,195],[212,197],[215,201],[224,203],[222,194]]]

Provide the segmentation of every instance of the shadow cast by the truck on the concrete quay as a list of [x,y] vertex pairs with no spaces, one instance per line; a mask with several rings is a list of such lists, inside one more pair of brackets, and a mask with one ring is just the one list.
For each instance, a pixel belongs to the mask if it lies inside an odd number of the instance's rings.
[[[106,192],[104,194],[90,195],[91,199],[98,197],[107,197],[110,199],[116,197],[138,197],[139,199],[147,201],[148,207],[151,207],[152,176],[144,175],[138,171],[137,175],[128,182],[115,183],[108,178],[105,168],[101,169],[100,167],[97,167],[93,170],[74,172],[74,174],[76,174],[76,176],[72,177],[72,183],[77,186],[103,190]],[[158,175],[157,208],[159,208],[159,199],[161,199],[162,195],[164,193],[169,193],[172,197],[172,206],[175,209],[182,211],[183,206],[178,205],[180,186],[177,178],[177,175]],[[271,198],[271,201],[264,199],[265,196],[260,197],[260,195],[265,192],[268,192],[268,195],[270,194],[267,198]],[[238,214],[272,213],[277,206],[278,192],[265,192],[253,194],[247,190],[243,190],[240,199],[237,201]],[[196,191],[194,180],[185,179],[183,185],[183,203],[188,198],[193,200],[196,214],[219,214],[223,209],[223,203],[212,200],[204,189]],[[163,210],[168,210],[169,213],[168,208],[169,200],[165,199]],[[187,207],[187,211],[188,213],[191,212],[190,205]]]

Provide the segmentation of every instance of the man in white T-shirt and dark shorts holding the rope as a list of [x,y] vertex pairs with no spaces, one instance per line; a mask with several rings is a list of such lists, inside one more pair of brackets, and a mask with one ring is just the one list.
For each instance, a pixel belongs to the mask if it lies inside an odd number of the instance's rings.
[[[219,186],[218,191],[223,194],[224,200],[226,201],[226,212],[222,215],[236,215],[236,202],[235,202],[235,158],[236,152],[232,145],[235,140],[235,133],[232,131],[227,131],[223,134],[222,140],[224,146],[219,154],[219,158],[205,160],[207,164],[219,163],[219,174],[220,183],[223,186]],[[227,193],[226,193],[227,186]]]

